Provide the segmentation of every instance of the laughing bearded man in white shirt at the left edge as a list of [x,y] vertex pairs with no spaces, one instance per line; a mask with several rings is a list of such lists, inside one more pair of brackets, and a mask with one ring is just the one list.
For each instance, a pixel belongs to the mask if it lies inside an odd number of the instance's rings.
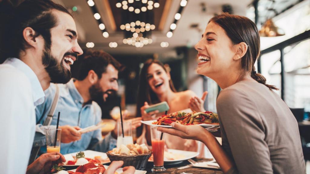
[[[70,13],[52,1],[26,0],[3,28],[0,65],[1,173],[26,173],[35,133],[35,106],[50,82],[67,83],[70,65],[83,51]],[[44,172],[59,153],[45,154],[27,169]],[[16,162],[18,161],[18,167]],[[60,162],[60,161],[59,161]]]

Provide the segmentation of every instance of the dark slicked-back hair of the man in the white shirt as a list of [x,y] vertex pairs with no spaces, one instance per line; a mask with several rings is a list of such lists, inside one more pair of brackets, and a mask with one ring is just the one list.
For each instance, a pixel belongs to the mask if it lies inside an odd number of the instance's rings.
[[[45,48],[51,48],[51,28],[57,26],[57,18],[52,14],[52,10],[69,13],[63,6],[52,2],[51,0],[25,0],[17,7],[6,3],[7,10],[1,14],[1,47],[0,63],[3,63],[8,57],[19,58],[21,51],[24,51],[29,45],[24,40],[23,31],[31,27],[36,31],[34,37],[42,36],[45,40]],[[11,5],[11,6],[10,6]],[[72,15],[71,15],[72,16]]]

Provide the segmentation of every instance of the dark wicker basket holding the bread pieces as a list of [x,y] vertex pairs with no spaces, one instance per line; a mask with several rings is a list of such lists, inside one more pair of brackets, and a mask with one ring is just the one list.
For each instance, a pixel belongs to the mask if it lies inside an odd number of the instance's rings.
[[146,164],[148,163],[148,159],[152,155],[152,151],[150,150],[148,153],[139,154],[139,155],[116,155],[112,154],[112,150],[107,152],[108,158],[110,161],[124,161],[122,167],[126,166],[134,166],[137,170],[144,170]]

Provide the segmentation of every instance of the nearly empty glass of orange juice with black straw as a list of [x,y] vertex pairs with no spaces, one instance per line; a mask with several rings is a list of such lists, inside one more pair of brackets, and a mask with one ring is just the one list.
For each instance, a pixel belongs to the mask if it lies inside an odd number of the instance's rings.
[[[55,137],[57,133],[57,137]],[[46,150],[50,152],[60,152],[61,129],[46,129]]]

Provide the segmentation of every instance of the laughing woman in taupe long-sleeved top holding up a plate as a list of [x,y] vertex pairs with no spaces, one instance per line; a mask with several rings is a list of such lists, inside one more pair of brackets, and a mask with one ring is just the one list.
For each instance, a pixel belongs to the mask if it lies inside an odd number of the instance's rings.
[[177,123],[159,131],[202,141],[224,173],[306,173],[298,124],[289,107],[255,72],[260,41],[248,18],[224,13],[210,19],[197,43],[197,73],[223,89],[216,106],[222,146],[201,126]]

